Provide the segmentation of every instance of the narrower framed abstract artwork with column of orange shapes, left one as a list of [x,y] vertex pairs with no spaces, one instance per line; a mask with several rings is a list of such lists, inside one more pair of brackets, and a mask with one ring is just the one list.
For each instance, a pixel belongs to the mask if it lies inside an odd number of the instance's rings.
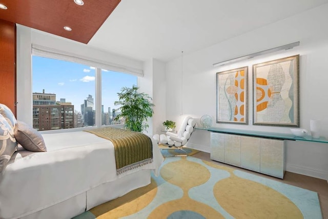
[[216,122],[248,124],[248,67],[216,73]]

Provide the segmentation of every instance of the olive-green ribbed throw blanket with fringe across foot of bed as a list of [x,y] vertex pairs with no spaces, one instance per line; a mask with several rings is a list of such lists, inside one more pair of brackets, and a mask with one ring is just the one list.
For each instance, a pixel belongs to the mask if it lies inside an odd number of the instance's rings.
[[111,127],[85,131],[113,143],[117,174],[153,162],[153,144],[145,134]]

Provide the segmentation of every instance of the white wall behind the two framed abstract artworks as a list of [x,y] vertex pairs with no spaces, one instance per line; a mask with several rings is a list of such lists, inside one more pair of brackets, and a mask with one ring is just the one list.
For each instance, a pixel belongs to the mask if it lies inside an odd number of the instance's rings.
[[[183,114],[213,117],[213,127],[290,132],[286,127],[253,126],[252,65],[300,54],[300,127],[310,130],[310,119],[321,120],[321,135],[328,138],[328,4],[183,56]],[[219,27],[218,27],[219,28]],[[223,67],[213,63],[300,41],[300,46]],[[216,72],[249,66],[249,125],[216,124]],[[167,63],[166,112],[181,114],[181,59]],[[170,89],[175,88],[175,89]],[[173,107],[172,107],[173,106]],[[179,125],[179,124],[178,124]],[[197,133],[197,135],[196,135]],[[209,132],[197,130],[190,145],[210,151]],[[287,141],[286,170],[328,179],[328,144]]]

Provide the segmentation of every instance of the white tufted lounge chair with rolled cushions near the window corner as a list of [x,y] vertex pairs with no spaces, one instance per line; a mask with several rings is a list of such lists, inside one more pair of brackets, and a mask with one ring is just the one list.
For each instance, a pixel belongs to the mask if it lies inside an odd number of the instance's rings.
[[[195,125],[196,125],[196,120],[191,116],[186,116],[177,133],[166,132],[166,134],[160,134],[160,135],[155,134],[153,138],[159,144],[168,147],[174,147],[184,151],[186,154],[182,156],[187,156],[188,153],[185,150],[183,150],[182,146],[186,145],[186,143],[188,142],[192,132],[194,131]],[[168,150],[168,149],[164,149],[164,150]],[[175,156],[181,156],[181,155],[175,155]]]

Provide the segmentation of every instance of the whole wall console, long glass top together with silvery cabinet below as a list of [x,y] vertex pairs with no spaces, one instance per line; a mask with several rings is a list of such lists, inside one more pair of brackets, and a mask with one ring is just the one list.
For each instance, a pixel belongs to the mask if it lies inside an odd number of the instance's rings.
[[211,132],[211,159],[263,174],[283,178],[285,140],[328,143],[325,137],[297,137],[288,133],[196,128]]

